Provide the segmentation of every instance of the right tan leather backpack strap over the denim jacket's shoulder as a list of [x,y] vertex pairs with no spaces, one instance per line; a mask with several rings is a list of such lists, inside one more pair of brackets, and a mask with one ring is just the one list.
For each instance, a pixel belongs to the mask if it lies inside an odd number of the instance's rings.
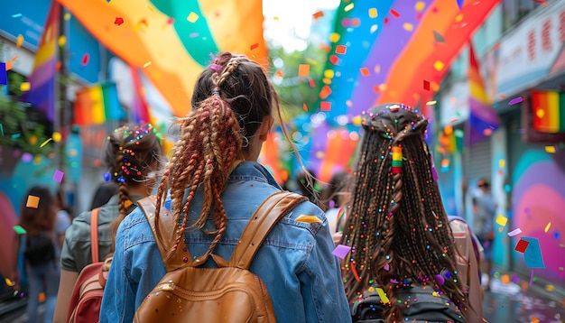
[[289,191],[276,192],[255,210],[229,259],[230,267],[248,270],[253,257],[273,226],[300,203],[308,200]]

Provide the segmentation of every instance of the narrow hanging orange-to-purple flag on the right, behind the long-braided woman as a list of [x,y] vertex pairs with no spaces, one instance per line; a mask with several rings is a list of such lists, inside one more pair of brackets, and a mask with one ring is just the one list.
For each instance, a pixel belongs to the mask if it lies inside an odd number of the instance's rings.
[[469,46],[469,117],[468,117],[468,145],[478,143],[492,134],[500,126],[500,119],[495,109],[486,100],[486,90],[483,78],[480,75],[477,57],[473,46]]

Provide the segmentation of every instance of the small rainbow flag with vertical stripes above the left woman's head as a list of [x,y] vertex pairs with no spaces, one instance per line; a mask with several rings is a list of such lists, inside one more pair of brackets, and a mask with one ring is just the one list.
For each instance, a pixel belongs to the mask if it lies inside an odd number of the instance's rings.
[[77,92],[74,120],[76,125],[101,125],[125,118],[115,83],[104,83]]

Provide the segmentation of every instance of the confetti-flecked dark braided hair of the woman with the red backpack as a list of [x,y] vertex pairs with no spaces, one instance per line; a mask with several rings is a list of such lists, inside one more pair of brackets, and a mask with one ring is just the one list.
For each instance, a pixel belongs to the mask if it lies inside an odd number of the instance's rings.
[[119,188],[119,214],[111,224],[112,236],[116,236],[117,227],[131,211],[129,189],[145,185],[147,195],[151,194],[161,155],[161,141],[153,125],[123,125],[107,136],[102,160]]

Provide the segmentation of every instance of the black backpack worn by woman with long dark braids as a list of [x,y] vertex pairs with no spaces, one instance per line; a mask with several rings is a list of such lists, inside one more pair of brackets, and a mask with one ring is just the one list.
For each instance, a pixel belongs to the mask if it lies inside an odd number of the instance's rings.
[[[417,323],[465,323],[461,311],[445,295],[434,294],[428,286],[414,286],[396,292],[398,300],[407,300],[403,306],[404,318]],[[449,304],[449,305],[448,305]],[[377,291],[366,291],[362,298],[351,305],[351,318],[357,323],[385,323],[382,313],[384,304]]]

